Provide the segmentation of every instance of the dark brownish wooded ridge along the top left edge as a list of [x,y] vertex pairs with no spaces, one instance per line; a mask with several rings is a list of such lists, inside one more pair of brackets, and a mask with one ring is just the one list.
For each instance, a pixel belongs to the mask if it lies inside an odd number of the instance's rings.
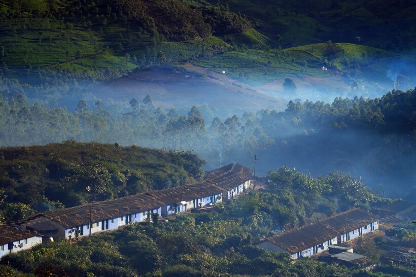
[[[9,3],[7,3],[9,4]],[[242,32],[250,28],[249,20],[229,10],[228,5],[211,6],[204,3],[174,0],[65,0],[47,1],[44,9],[28,12],[28,4],[12,2],[0,12],[2,18],[47,17],[66,18],[67,22],[107,25],[114,22],[136,23],[160,41],[194,40],[210,37],[214,32],[224,34]],[[26,7],[25,7],[26,6]]]

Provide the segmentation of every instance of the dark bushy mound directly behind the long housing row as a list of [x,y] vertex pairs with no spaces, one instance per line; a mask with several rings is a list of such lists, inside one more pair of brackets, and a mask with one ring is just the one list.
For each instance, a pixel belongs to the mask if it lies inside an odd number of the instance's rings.
[[0,148],[1,216],[19,220],[79,205],[200,180],[204,162],[188,151],[76,143]]

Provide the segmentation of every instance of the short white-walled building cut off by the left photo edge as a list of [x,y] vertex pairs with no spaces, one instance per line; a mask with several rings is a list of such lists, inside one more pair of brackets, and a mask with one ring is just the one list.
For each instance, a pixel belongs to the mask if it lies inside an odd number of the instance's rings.
[[30,250],[41,243],[42,236],[39,234],[0,226],[0,258],[9,253]]

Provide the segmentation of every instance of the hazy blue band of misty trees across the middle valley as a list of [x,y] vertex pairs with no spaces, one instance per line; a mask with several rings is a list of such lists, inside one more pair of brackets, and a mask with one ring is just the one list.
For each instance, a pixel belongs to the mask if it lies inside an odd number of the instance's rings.
[[251,165],[257,154],[267,168],[296,166],[314,176],[339,169],[363,176],[379,194],[394,185],[397,195],[410,197],[416,170],[415,97],[416,90],[394,90],[382,98],[336,98],[331,104],[291,101],[284,112],[261,110],[224,120],[205,106],[185,115],[175,108],[165,111],[150,96],[124,105],[97,100],[93,107],[80,100],[70,112],[30,105],[18,94],[0,98],[0,145],[76,140],[187,149],[210,168],[236,160]]

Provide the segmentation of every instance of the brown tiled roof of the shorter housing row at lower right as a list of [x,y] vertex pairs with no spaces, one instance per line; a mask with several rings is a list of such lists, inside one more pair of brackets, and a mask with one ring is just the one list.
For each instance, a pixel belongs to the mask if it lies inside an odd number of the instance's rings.
[[294,254],[332,239],[344,233],[344,230],[350,232],[375,220],[374,215],[361,209],[354,209],[282,235],[269,237],[267,240]]

